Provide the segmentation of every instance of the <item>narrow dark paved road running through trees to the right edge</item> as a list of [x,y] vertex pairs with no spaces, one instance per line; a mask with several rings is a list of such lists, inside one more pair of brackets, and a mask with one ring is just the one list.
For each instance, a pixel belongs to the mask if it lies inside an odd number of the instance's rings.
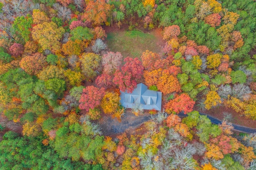
[[[206,115],[205,113],[201,113],[201,112],[199,112],[200,113],[200,115]],[[180,114],[179,114],[180,115]],[[181,115],[182,117],[186,117],[187,115]],[[222,123],[222,121],[220,121],[219,119],[216,119],[216,118],[214,118],[214,117],[212,117],[212,116],[209,116],[209,115],[206,115],[210,120],[211,120],[211,122],[212,123],[214,123],[214,124],[221,124]],[[236,124],[233,124],[232,123],[232,125],[233,125],[233,127],[234,127],[234,130],[238,130],[238,131],[240,131],[240,132],[246,132],[246,133],[256,133],[256,129],[255,128],[248,128],[248,127],[243,127],[243,126],[240,126],[240,125],[236,125]]]

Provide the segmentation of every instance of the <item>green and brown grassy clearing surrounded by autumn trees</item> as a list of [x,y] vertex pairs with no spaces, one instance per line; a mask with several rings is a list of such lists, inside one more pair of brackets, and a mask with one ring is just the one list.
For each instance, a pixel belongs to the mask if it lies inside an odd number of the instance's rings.
[[143,33],[137,30],[111,32],[107,36],[107,45],[110,51],[118,51],[124,57],[140,58],[146,50],[160,53],[157,38],[152,33]]

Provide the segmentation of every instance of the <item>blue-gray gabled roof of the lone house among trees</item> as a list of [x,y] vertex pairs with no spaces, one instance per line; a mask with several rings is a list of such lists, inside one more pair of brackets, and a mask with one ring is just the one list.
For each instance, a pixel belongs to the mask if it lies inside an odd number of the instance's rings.
[[123,107],[133,108],[134,105],[141,105],[142,109],[161,111],[162,92],[148,90],[143,83],[137,84],[132,93],[120,91],[120,103]]

